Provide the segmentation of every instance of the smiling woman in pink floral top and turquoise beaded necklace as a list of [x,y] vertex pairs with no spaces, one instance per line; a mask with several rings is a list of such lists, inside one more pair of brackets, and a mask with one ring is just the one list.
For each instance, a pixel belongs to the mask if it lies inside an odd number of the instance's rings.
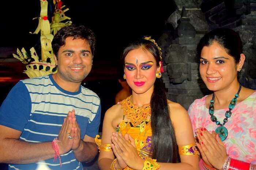
[[225,28],[207,33],[197,46],[200,75],[213,94],[189,107],[200,169],[256,169],[256,92],[240,85],[245,55],[239,35]]

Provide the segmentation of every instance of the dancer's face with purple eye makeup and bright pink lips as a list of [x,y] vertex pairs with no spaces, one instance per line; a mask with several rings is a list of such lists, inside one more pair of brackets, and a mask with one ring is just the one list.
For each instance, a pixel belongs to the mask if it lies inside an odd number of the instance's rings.
[[149,51],[138,48],[128,52],[124,59],[124,73],[133,92],[143,94],[153,92],[156,73],[160,67]]

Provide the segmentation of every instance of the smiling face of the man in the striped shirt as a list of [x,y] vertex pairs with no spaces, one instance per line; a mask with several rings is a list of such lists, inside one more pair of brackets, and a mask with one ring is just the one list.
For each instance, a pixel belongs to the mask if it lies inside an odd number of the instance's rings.
[[65,45],[58,51],[58,59],[54,56],[58,65],[57,74],[65,82],[82,82],[90,73],[93,55],[89,43],[84,39],[67,37]]

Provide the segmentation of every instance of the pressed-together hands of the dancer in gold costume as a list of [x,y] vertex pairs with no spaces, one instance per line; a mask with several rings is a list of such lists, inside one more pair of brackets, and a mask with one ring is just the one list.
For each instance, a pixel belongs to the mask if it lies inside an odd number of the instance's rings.
[[[120,155],[123,161],[132,169],[143,169],[144,160],[139,157],[136,150],[136,145],[134,139],[129,135],[125,134],[123,137],[122,134],[116,132],[111,136],[113,146],[112,149],[114,154]],[[128,139],[128,140],[127,140]],[[129,143],[129,141],[131,143]]]

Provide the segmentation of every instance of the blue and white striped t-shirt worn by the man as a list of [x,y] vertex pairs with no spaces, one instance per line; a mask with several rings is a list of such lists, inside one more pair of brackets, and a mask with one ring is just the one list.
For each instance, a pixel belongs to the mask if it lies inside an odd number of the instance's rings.
[[[64,118],[73,109],[81,129],[81,139],[85,135],[94,138],[101,118],[97,94],[83,86],[77,92],[66,91],[54,82],[52,75],[26,79],[18,82],[4,100],[0,108],[0,124],[22,131],[19,140],[49,142],[58,137]],[[53,162],[52,158],[31,164],[12,164],[9,169],[34,170],[38,166],[83,169],[72,150],[61,155],[61,162],[60,167],[59,159]]]

